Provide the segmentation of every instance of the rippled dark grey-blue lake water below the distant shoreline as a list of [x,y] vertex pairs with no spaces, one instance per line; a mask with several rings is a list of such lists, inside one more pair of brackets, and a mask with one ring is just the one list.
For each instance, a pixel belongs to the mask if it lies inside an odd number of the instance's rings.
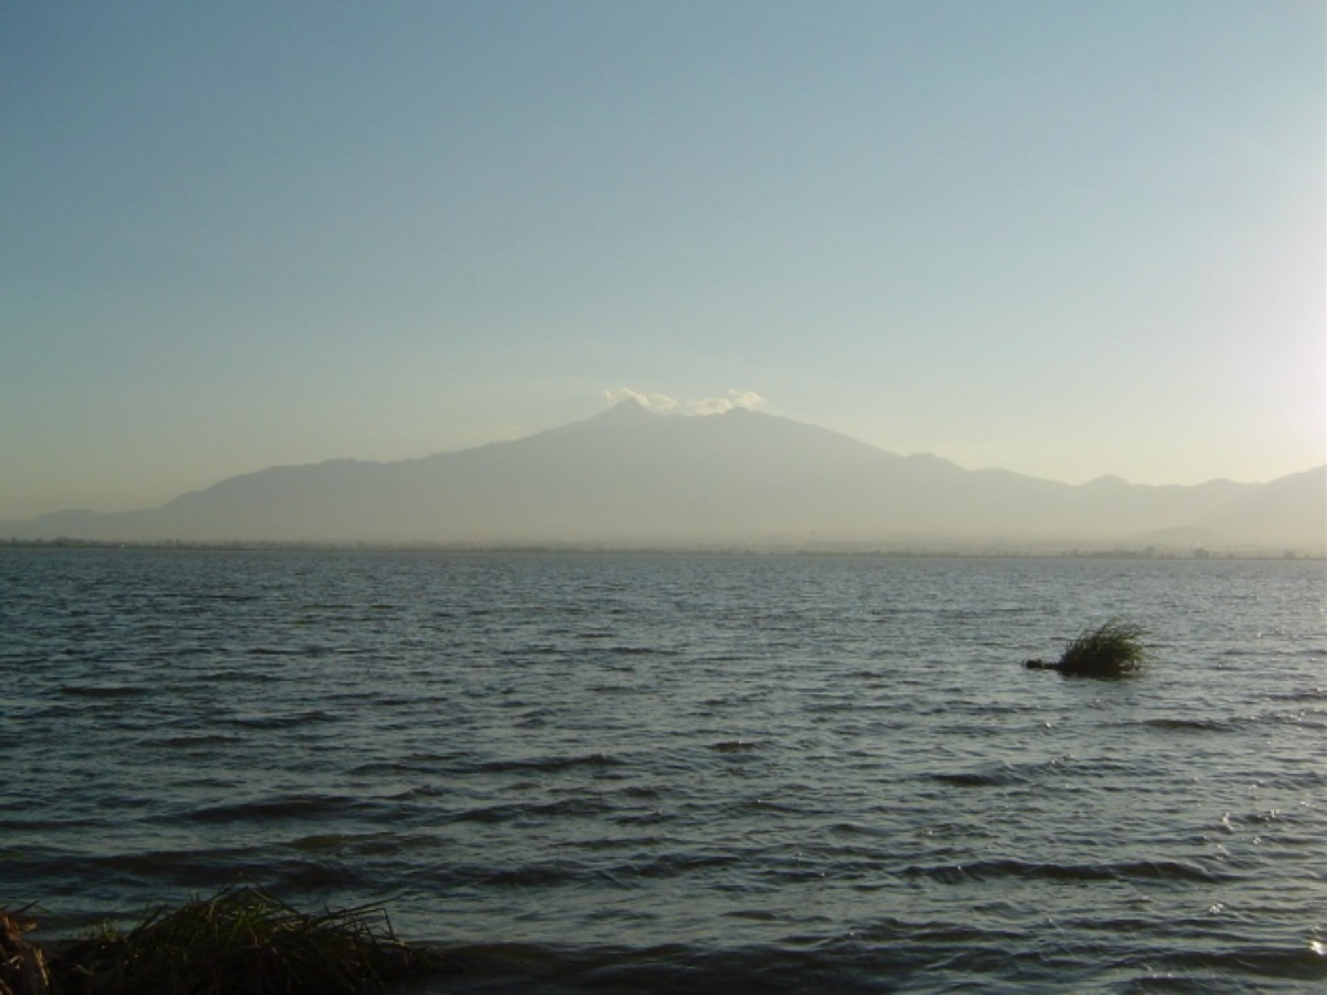
[[[1020,662],[1111,616],[1129,681]],[[382,902],[430,992],[1320,991],[1304,561],[0,549],[0,905]]]

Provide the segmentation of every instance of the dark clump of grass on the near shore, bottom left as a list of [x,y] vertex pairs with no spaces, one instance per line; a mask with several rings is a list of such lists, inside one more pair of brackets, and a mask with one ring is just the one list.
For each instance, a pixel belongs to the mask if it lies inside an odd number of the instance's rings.
[[358,995],[441,967],[397,939],[381,906],[309,915],[256,888],[154,909],[52,961],[68,995]]

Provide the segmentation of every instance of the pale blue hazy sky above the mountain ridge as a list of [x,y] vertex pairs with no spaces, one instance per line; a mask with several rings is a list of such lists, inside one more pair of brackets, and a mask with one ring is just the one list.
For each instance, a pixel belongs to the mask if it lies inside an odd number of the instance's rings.
[[1074,483],[1307,470],[1324,11],[4,4],[0,519],[622,389]]

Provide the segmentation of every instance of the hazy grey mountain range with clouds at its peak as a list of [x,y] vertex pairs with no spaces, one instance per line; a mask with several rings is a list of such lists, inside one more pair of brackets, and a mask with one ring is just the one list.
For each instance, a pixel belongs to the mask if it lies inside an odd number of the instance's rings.
[[[900,456],[733,410],[624,402],[417,460],[272,467],[159,508],[0,523],[4,539],[445,544],[1188,545],[1327,552],[1327,467],[1267,484],[1070,484]],[[1176,541],[1178,540],[1178,541]]]

